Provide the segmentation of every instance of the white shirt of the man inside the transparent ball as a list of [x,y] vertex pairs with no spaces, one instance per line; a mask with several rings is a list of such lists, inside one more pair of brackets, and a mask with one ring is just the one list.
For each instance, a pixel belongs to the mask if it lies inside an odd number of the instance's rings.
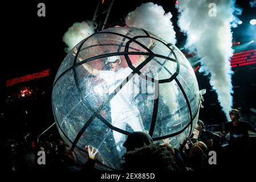
[[[114,90],[123,82],[130,74],[132,69],[120,68],[119,71],[100,71],[99,77],[107,82],[108,93],[111,94]],[[121,111],[138,111],[135,104],[135,90],[136,84],[134,76],[125,84],[123,88],[117,92],[117,94],[111,99],[110,106],[111,112],[121,112]]]

